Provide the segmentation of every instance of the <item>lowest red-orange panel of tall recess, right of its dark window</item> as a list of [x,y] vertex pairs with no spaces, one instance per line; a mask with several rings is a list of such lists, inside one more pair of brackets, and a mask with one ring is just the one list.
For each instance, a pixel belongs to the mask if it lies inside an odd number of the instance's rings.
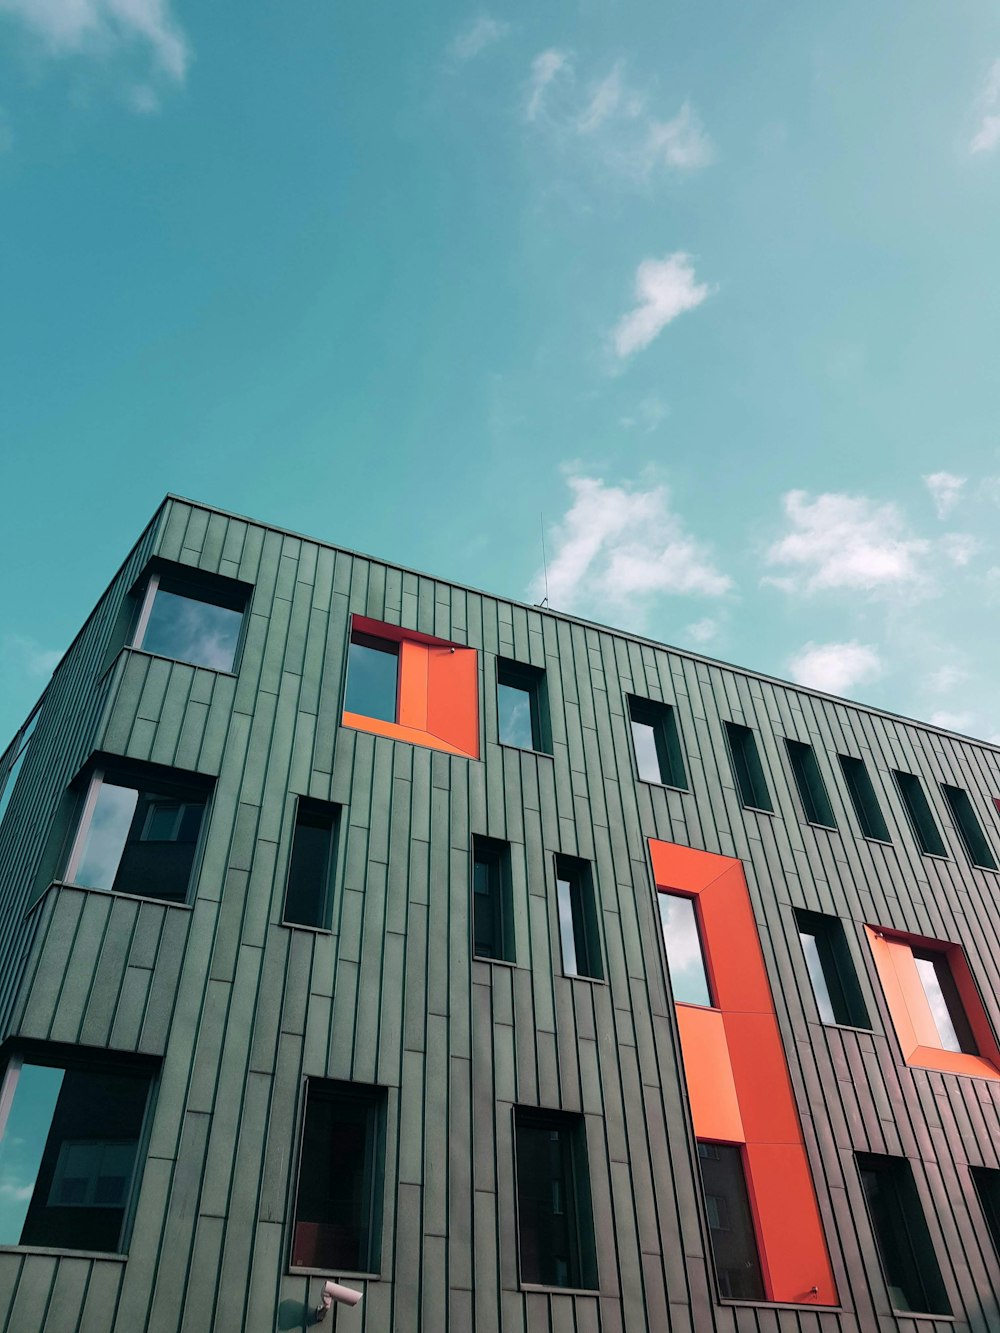
[[768,1298],[836,1305],[837,1289],[804,1146],[749,1144],[745,1152]]

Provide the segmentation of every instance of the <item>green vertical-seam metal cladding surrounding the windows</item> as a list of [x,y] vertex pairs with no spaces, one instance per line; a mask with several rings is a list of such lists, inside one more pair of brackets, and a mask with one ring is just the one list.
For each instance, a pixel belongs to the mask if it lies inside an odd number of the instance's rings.
[[[237,674],[121,649],[151,557],[253,585]],[[480,760],[340,726],[352,615],[480,653]],[[496,659],[544,668],[552,756],[497,744]],[[689,792],[640,782],[627,694],[676,706]],[[723,722],[757,732],[775,813],[744,809]],[[815,746],[839,830],[801,814]],[[215,778],[191,905],[52,886],[64,792],[93,752]],[[857,832],[863,757],[891,845]],[[304,1078],[387,1092],[381,1278],[365,1333],[1000,1329],[969,1165],[1000,1168],[1000,1084],[903,1062],[863,926],[959,942],[1000,1028],[1000,756],[939,730],[571,617],[168,500],[56,672],[5,821],[0,1001],[19,1038],[143,1052],[157,1092],[127,1260],[0,1252],[4,1333],[301,1328],[289,1272]],[[920,774],[948,860],[891,778]],[[296,794],[344,806],[332,932],[280,924]],[[508,840],[517,965],[471,957],[472,834]],[[840,1308],[717,1298],[648,838],[739,857]],[[592,862],[604,981],[563,976],[553,854]],[[47,860],[48,858],[48,860]],[[819,1020],[793,909],[843,918],[872,1032]],[[521,1289],[513,1105],[587,1117],[599,1294]],[[953,1320],[891,1313],[855,1154],[908,1158]]]

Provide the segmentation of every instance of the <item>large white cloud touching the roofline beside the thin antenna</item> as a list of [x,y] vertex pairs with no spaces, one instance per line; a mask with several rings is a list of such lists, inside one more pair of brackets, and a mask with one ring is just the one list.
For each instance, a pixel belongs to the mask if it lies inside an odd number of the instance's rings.
[[[607,485],[597,477],[571,476],[572,503],[555,529],[548,567],[553,607],[635,604],[651,596],[719,597],[732,580],[721,573],[705,545],[684,531],[665,487]],[[544,593],[541,575],[533,596]]]

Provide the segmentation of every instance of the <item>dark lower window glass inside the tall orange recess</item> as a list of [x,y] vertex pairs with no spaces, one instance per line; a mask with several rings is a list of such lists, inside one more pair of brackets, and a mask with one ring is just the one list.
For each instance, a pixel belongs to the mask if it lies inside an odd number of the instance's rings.
[[743,1152],[733,1144],[699,1144],[697,1157],[719,1294],[731,1301],[763,1301],[764,1280]]

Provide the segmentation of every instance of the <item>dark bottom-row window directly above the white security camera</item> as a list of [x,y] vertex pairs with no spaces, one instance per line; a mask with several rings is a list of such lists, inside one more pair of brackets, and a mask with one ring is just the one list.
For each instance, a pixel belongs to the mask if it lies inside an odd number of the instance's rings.
[[308,1081],[292,1237],[295,1268],[379,1270],[384,1105],[380,1088]]

